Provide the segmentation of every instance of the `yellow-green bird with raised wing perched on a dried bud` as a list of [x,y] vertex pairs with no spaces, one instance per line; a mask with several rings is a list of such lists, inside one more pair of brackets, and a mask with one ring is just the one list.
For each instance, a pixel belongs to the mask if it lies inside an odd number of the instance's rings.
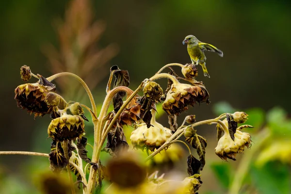
[[206,68],[206,57],[204,54],[204,51],[211,51],[216,52],[219,56],[223,57],[223,52],[220,49],[217,49],[213,45],[200,42],[194,35],[188,35],[185,37],[185,40],[183,40],[183,45],[187,44],[187,50],[190,55],[192,64],[201,65],[204,76],[207,76],[210,78],[210,75]]

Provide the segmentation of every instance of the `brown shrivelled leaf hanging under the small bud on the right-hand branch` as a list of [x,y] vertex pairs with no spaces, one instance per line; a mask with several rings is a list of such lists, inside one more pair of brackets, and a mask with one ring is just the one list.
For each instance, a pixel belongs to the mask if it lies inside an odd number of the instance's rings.
[[191,144],[191,146],[193,148],[195,148],[197,150],[197,154],[199,155],[199,159],[200,159],[200,162],[201,162],[201,169],[200,170],[203,170],[203,167],[205,165],[205,148],[207,146],[207,142],[206,142],[206,139],[200,135],[198,135],[196,133],[196,130],[194,130],[194,133],[193,133],[193,136],[192,137],[186,137],[185,140]]

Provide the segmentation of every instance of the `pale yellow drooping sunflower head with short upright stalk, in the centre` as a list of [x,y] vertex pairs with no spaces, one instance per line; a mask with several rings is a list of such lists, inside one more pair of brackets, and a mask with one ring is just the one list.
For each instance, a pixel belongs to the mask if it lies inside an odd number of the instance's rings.
[[133,147],[154,151],[171,137],[171,130],[156,122],[154,111],[152,113],[153,116],[150,121],[152,126],[150,128],[147,128],[146,124],[142,123],[131,132],[130,141]]

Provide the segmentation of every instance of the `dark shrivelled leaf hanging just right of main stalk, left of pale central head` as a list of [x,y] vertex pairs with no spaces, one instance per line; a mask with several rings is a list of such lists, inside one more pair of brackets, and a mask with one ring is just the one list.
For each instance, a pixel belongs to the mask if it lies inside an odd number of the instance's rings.
[[128,148],[129,145],[126,141],[123,129],[119,125],[107,133],[107,144],[104,151],[108,152],[112,156],[116,156],[119,152],[128,150]]

